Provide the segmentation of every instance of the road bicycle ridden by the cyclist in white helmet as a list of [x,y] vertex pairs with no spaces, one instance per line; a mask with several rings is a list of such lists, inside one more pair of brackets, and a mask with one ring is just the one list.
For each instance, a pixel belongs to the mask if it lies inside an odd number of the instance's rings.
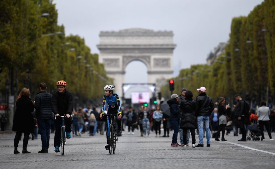
[[117,136],[117,132],[116,132],[116,125],[114,122],[114,117],[118,116],[117,114],[105,114],[105,116],[109,116],[110,119],[110,123],[109,123],[109,135],[108,135],[108,141],[109,141],[109,153],[113,154],[116,152],[116,142],[118,141],[118,136]]

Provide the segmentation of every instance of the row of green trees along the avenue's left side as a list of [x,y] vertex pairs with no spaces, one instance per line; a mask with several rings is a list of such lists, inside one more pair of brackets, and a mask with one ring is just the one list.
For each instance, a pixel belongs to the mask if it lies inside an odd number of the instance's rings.
[[[102,97],[106,76],[98,55],[91,54],[83,38],[65,36],[57,24],[58,12],[52,0],[2,0],[0,2],[0,91],[18,94],[31,88],[32,97],[41,82],[48,91],[58,80],[81,100]],[[8,83],[7,83],[8,82]]]

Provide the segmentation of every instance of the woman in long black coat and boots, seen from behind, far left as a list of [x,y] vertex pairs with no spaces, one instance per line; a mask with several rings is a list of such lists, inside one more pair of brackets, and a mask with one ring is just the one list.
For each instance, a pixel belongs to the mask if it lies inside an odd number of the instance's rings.
[[14,138],[14,154],[18,154],[18,143],[21,134],[24,133],[23,139],[23,151],[22,153],[31,153],[27,151],[27,145],[30,133],[33,133],[33,103],[30,98],[30,90],[23,88],[19,94],[19,98],[16,101],[16,110],[13,117],[12,130],[16,131]]

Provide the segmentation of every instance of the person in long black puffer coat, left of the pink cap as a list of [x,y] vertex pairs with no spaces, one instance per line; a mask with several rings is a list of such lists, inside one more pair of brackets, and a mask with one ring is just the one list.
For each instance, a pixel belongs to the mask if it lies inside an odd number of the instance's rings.
[[190,90],[186,91],[185,99],[181,101],[180,109],[182,110],[180,128],[183,129],[183,147],[187,147],[186,135],[190,130],[192,136],[192,148],[195,148],[197,128],[197,118],[195,116],[196,102],[192,99],[193,94]]

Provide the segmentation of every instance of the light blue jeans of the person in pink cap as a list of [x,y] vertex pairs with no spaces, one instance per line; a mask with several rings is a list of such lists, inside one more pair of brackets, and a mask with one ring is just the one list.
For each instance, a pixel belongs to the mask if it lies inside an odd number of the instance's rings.
[[199,129],[199,144],[203,143],[203,127],[206,132],[207,144],[210,144],[211,135],[209,129],[209,117],[208,116],[198,116],[198,129]]

